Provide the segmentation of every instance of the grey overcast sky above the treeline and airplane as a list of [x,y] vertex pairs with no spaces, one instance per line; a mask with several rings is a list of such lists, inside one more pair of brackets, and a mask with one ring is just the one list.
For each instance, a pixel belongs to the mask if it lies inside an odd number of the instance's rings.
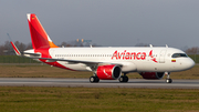
[[113,47],[199,47],[199,0],[0,0],[0,44],[31,42],[35,13],[55,44],[76,39]]

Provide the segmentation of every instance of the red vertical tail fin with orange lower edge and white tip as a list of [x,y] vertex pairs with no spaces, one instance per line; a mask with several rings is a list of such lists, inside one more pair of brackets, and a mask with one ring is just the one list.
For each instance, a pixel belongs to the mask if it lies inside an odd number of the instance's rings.
[[59,48],[52,42],[35,14],[28,13],[27,18],[33,49]]

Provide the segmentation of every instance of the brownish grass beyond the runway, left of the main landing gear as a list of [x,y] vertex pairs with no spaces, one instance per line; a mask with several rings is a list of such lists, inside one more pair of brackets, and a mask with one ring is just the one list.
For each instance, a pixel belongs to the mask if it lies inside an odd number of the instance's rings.
[[1,78],[90,78],[92,72],[69,71],[50,65],[0,65]]

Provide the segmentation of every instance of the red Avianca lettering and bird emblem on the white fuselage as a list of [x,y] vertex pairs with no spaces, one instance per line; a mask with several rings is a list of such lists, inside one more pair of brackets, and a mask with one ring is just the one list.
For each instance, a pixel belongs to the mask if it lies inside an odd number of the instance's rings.
[[[149,52],[149,57],[151,58],[151,61],[156,62],[156,58],[153,57],[153,50]],[[112,60],[146,60],[146,52],[127,52],[124,50],[124,52],[118,52],[117,50],[113,53]]]

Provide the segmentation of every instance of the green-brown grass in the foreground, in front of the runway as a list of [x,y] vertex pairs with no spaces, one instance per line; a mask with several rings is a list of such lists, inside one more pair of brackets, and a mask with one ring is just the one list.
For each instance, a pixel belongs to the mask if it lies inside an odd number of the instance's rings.
[[198,112],[199,90],[0,86],[1,112]]

